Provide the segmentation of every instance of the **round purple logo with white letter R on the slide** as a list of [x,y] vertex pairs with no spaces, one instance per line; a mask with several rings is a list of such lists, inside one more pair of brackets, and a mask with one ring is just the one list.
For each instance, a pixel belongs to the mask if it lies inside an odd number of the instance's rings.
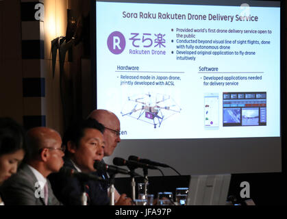
[[125,50],[125,36],[119,31],[114,31],[108,37],[108,48],[111,53],[118,55]]

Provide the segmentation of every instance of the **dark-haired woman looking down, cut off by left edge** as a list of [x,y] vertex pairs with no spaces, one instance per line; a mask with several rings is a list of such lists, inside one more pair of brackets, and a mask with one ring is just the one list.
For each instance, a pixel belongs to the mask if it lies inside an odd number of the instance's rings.
[[[25,155],[23,127],[11,118],[0,118],[0,186],[16,173]],[[0,205],[3,205],[0,196]]]

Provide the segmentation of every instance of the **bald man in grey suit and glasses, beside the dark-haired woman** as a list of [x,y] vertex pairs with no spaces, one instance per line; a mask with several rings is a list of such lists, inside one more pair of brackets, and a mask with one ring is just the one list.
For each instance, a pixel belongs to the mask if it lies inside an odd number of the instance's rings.
[[46,127],[27,131],[28,153],[25,163],[1,188],[5,205],[61,205],[47,179],[58,172],[64,161],[59,133]]

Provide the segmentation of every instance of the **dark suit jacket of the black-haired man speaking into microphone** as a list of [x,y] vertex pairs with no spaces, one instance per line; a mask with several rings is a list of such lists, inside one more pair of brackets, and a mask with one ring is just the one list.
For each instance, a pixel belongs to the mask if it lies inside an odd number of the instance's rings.
[[[64,158],[63,168],[72,168],[77,172],[71,159]],[[99,176],[99,172],[92,174]],[[76,177],[70,177],[63,172],[49,175],[55,196],[64,205],[82,205],[82,194],[88,195],[88,205],[109,205],[108,183],[99,181],[79,181]]]

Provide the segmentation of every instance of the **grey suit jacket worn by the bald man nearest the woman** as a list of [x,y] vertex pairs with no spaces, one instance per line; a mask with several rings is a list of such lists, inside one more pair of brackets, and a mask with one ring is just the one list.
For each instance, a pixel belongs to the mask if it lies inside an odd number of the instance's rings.
[[[38,186],[36,176],[32,170],[24,164],[15,175],[6,180],[1,186],[1,198],[5,205],[46,205],[44,198],[36,196]],[[53,194],[51,183],[48,183],[48,205],[61,205]]]

